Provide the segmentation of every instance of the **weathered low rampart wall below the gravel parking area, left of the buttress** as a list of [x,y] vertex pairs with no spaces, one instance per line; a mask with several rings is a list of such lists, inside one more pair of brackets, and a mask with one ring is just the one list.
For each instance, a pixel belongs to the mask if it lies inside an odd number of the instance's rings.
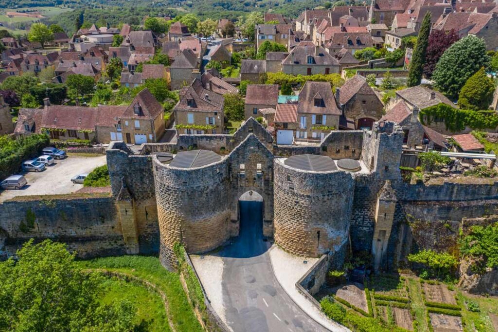
[[[0,258],[14,255],[22,244],[52,239],[76,250],[82,258],[126,253],[114,197],[9,200],[0,204]],[[34,216],[33,227],[27,211]]]

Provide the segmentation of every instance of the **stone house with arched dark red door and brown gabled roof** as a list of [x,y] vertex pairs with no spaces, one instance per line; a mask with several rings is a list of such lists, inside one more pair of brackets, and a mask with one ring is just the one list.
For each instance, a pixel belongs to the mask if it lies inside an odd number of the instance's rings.
[[348,79],[336,88],[336,100],[342,115],[355,123],[356,129],[372,129],[373,123],[382,117],[384,105],[361,75]]

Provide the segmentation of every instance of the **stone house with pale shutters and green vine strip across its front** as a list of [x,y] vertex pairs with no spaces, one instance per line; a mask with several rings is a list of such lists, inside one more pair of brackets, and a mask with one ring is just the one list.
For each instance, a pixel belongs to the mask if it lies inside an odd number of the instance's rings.
[[201,80],[180,90],[180,100],[173,108],[178,134],[223,134],[225,99],[203,87]]

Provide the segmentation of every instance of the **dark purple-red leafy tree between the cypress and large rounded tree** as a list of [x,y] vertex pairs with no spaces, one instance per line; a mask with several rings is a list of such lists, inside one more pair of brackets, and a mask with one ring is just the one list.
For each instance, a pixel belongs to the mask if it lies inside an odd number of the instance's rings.
[[450,31],[433,29],[429,35],[429,43],[427,44],[427,51],[425,54],[424,76],[431,78],[432,72],[436,69],[436,63],[439,61],[441,55],[446,51],[454,42],[458,41],[460,36],[458,33],[451,29]]

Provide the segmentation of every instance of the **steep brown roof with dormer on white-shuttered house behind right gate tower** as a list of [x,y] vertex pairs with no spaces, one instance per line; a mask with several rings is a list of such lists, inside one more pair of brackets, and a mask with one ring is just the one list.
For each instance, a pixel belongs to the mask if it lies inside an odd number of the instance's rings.
[[[249,87],[249,86],[248,86]],[[322,99],[323,106],[315,107],[315,99]],[[306,81],[297,104],[298,113],[341,115],[329,82]]]

